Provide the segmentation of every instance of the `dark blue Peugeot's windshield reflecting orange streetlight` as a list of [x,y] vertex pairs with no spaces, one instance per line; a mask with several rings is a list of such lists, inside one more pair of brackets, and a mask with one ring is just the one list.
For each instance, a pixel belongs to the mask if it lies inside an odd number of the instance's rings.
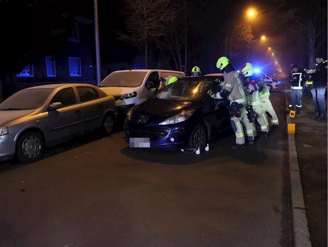
[[155,97],[172,101],[202,101],[212,85],[212,81],[177,80],[159,91]]

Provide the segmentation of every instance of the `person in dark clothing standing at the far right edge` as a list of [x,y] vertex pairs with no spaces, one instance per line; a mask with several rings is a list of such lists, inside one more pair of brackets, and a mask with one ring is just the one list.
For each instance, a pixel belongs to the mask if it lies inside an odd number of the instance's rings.
[[316,56],[316,62],[318,64],[316,68],[309,72],[313,80],[312,97],[316,111],[310,119],[321,121],[325,118],[326,112],[325,91],[328,79],[328,60],[324,60],[322,56]]

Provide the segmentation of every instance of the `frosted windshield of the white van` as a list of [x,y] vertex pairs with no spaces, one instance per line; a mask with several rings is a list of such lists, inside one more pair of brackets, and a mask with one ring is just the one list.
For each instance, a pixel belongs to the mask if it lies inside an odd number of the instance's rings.
[[124,71],[115,72],[106,77],[98,87],[139,87],[147,72]]

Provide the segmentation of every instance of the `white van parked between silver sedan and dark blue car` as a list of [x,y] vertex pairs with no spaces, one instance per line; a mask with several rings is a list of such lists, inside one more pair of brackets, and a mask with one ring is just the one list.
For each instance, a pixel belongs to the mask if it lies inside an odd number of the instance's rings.
[[113,95],[117,109],[126,114],[128,110],[167,85],[169,78],[185,77],[184,72],[172,70],[118,70],[108,75],[98,87],[108,95]]

